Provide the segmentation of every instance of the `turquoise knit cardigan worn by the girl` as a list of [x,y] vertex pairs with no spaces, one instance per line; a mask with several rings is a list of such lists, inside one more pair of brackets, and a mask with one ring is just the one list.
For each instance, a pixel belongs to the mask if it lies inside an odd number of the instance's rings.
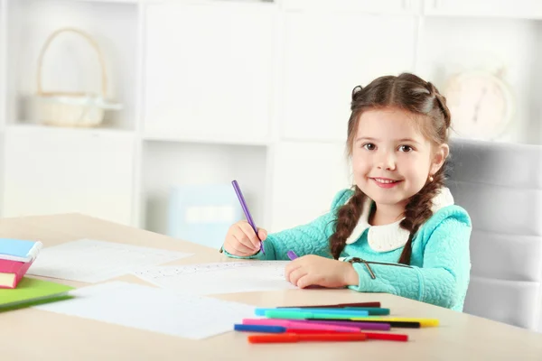
[[[312,222],[269,234],[264,241],[266,254],[235,258],[288,260],[286,253],[321,255],[332,258],[329,237],[335,229],[337,210],[352,196],[352,190],[341,190],[332,201],[331,210]],[[367,228],[360,238],[346,245],[341,253],[344,261],[359,257],[369,262],[376,275],[371,279],[365,264],[353,264],[360,277],[358,292],[387,292],[409,299],[432,303],[452,310],[463,310],[470,280],[469,239],[472,223],[467,212],[456,205],[438,209],[418,229],[412,242],[409,266],[397,264],[403,251],[399,247],[388,252],[374,251],[368,245]],[[342,258],[341,258],[342,259]],[[378,262],[384,264],[370,264]]]

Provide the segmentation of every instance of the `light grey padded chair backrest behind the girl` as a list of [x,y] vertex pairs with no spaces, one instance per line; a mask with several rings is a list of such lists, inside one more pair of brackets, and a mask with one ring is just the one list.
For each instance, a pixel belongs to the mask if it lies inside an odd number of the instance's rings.
[[453,139],[447,186],[472,218],[464,312],[542,331],[542,146]]

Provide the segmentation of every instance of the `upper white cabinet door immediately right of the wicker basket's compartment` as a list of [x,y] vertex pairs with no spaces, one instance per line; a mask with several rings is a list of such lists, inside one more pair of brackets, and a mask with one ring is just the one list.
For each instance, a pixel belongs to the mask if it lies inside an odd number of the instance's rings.
[[145,134],[265,141],[275,16],[261,4],[148,5]]

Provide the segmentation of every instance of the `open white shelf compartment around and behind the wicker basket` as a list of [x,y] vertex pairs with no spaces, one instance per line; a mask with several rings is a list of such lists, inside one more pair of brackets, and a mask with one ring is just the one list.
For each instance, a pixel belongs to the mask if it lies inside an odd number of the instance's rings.
[[[139,6],[124,1],[18,0],[6,15],[6,106],[8,119],[37,119],[37,82],[43,91],[94,92],[102,90],[102,67],[97,51],[74,32],[61,32],[42,59],[43,45],[53,32],[76,28],[98,43],[107,79],[107,99],[122,104],[107,111],[108,122],[135,128],[137,30]],[[129,124],[128,121],[131,123]]]

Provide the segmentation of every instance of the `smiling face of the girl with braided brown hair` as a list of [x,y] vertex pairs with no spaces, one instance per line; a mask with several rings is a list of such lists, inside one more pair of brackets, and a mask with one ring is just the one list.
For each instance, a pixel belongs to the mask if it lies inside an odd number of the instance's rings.
[[377,208],[404,209],[443,165],[448,146],[433,144],[422,134],[424,121],[397,108],[361,114],[352,144],[353,176]]

